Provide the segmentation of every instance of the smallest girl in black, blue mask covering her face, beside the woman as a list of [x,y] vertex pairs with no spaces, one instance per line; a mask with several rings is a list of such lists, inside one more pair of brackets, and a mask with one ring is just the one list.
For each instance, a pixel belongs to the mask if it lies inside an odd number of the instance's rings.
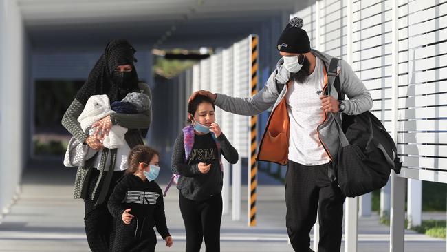
[[107,207],[116,219],[112,251],[155,251],[153,227],[172,246],[166,227],[162,189],[155,182],[160,167],[155,149],[137,145],[128,157],[129,168],[118,181]]

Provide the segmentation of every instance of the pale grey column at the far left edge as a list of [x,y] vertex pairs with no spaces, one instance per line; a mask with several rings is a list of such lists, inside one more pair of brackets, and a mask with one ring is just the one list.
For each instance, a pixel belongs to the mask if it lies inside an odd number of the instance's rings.
[[23,155],[24,30],[16,0],[0,1],[0,209],[8,213],[18,185]]

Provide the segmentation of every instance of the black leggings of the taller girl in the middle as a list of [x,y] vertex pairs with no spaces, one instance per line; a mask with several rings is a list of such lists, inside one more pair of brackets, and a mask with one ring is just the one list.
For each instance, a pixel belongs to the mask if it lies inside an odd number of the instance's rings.
[[205,240],[206,252],[219,252],[222,194],[195,201],[180,193],[179,204],[186,229],[186,252],[199,252],[202,240]]

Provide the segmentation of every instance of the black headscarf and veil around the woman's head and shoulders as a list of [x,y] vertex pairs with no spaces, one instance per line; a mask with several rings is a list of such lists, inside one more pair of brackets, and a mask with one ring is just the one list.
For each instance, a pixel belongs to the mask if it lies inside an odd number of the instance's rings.
[[[91,70],[87,81],[76,93],[76,100],[85,105],[90,96],[107,94],[110,103],[120,101],[127,93],[138,89],[138,74],[133,62],[135,49],[125,39],[114,39],[107,43],[105,52],[100,56],[96,65]],[[132,71],[127,74],[123,83],[114,81],[112,76],[118,65],[132,65]]]

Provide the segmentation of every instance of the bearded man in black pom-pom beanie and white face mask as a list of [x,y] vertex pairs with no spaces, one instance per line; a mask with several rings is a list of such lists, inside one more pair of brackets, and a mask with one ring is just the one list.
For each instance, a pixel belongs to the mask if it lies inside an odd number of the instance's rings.
[[[272,114],[259,144],[257,160],[287,165],[285,175],[286,227],[295,251],[309,249],[309,232],[320,220],[318,252],[340,251],[345,196],[331,180],[329,164],[338,151],[334,116],[361,114],[373,105],[368,90],[351,66],[338,61],[334,83],[328,87],[327,70],[332,56],[310,48],[302,29],[303,19],[295,17],[279,37],[282,56],[262,90],[253,97],[235,98],[200,90],[215,105],[235,114],[253,116],[273,105]],[[349,100],[343,100],[344,96]]]

